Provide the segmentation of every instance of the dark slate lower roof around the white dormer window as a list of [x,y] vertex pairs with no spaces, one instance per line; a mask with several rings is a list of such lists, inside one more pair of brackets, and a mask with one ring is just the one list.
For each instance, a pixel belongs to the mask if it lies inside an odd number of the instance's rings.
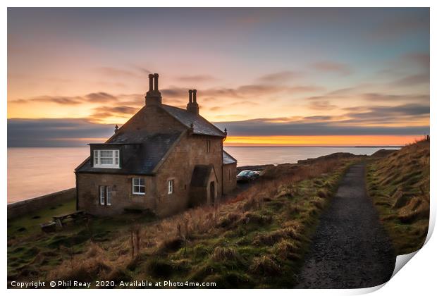
[[113,168],[93,168],[89,158],[76,168],[76,172],[153,175],[154,168],[164,159],[173,144],[178,141],[180,134],[181,132],[147,134],[144,130],[118,132],[105,144],[130,145],[133,142],[141,143],[123,149],[121,155],[123,158],[122,168],[115,170]]

